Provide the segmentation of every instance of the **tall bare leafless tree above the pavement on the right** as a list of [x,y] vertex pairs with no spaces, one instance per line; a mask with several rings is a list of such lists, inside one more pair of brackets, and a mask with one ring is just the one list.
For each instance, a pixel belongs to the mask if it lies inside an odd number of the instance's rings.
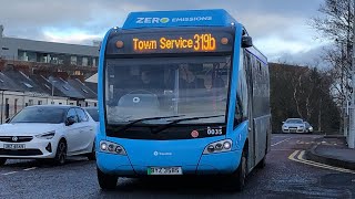
[[331,90],[341,108],[342,123],[346,121],[345,107],[351,95],[353,4],[353,0],[325,0],[318,9],[321,15],[310,21],[320,33],[318,39],[334,41],[332,46],[324,49],[323,60],[333,67],[329,71],[334,78]]

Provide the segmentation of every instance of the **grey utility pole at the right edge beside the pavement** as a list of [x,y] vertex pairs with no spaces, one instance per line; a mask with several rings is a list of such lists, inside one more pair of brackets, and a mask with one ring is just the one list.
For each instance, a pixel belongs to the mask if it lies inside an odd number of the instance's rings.
[[[353,1],[353,13],[355,13],[355,0]],[[353,18],[353,60],[352,60],[352,109],[351,109],[351,127],[347,137],[349,148],[355,148],[355,19]]]

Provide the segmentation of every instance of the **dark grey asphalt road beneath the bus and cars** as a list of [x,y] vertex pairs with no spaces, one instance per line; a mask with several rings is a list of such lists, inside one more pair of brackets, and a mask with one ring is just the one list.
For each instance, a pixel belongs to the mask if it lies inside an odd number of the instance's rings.
[[[253,171],[243,192],[226,192],[219,178],[120,179],[99,188],[94,161],[71,158],[61,167],[10,160],[0,167],[0,198],[355,198],[355,172],[321,168],[302,159],[316,135],[272,137],[264,169]],[[325,167],[325,166],[323,166]]]

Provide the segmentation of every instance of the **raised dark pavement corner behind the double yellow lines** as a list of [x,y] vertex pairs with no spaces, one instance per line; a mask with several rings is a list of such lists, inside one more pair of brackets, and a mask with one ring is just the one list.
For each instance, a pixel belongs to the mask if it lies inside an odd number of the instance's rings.
[[348,148],[344,136],[322,136],[306,150],[308,160],[355,170],[355,149]]

